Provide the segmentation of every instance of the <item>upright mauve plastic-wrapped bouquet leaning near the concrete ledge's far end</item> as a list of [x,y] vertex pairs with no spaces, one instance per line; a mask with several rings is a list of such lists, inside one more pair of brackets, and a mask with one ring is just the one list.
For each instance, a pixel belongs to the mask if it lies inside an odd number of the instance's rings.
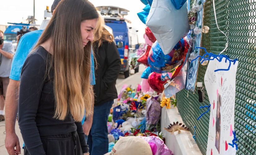
[[161,106],[155,98],[151,97],[146,101],[146,120],[147,124],[155,125],[161,116]]

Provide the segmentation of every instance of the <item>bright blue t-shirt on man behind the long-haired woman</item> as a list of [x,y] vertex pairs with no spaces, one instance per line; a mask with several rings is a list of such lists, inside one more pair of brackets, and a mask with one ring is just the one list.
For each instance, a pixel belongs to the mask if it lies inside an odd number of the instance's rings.
[[[43,30],[35,30],[24,34],[19,41],[16,53],[13,57],[11,64],[11,74],[10,79],[20,80],[21,68],[33,47],[36,45],[38,39],[40,38]],[[90,73],[90,83],[95,85],[95,75],[94,75],[94,63],[93,63],[93,52],[91,55],[91,73]]]

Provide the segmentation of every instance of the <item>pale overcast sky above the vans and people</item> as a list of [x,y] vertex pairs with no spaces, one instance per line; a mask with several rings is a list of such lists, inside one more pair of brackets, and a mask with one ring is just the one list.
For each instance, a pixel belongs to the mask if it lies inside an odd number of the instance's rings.
[[[146,25],[143,24],[137,16],[145,5],[140,0],[89,0],[97,6],[117,6],[129,10],[129,15],[125,16],[128,20],[132,21],[132,25],[139,30],[139,42],[144,42],[143,34],[145,32]],[[25,19],[29,15],[33,15],[33,0],[1,0],[1,17],[0,25],[7,25],[7,22],[11,23],[25,23]],[[35,18],[38,20],[36,24],[41,24],[43,20],[44,10],[46,6],[49,6],[51,10],[53,0],[35,0]],[[24,20],[22,20],[24,19]]]

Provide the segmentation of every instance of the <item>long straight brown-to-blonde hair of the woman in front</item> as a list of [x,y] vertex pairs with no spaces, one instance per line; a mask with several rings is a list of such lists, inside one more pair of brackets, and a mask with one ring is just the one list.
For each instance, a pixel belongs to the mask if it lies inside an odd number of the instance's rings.
[[54,70],[55,115],[64,120],[71,113],[75,121],[92,114],[94,104],[90,85],[91,42],[83,48],[80,24],[98,18],[95,7],[87,0],[61,0],[43,31],[37,48],[51,39],[53,53],[47,67]]

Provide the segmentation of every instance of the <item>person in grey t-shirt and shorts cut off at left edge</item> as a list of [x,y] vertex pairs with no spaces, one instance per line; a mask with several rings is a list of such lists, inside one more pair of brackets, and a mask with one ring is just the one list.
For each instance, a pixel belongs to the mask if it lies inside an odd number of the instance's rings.
[[4,34],[0,30],[0,122],[4,121],[4,105],[9,76],[11,71],[11,62],[14,54],[12,44],[3,42]]

